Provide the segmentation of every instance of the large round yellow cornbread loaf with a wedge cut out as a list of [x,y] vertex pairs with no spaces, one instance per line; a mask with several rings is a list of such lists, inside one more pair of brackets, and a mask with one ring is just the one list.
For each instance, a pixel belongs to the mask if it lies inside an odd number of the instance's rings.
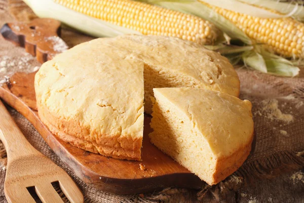
[[[77,45],[44,63],[35,76],[44,124],[79,148],[140,160],[143,111],[154,87],[207,88],[239,95],[229,61],[177,38],[125,35]],[[144,103],[144,108],[143,108]]]

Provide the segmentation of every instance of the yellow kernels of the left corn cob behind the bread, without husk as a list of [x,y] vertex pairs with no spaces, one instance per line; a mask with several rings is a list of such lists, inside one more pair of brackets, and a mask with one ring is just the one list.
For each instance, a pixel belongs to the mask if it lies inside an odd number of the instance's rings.
[[130,0],[54,0],[85,15],[141,32],[210,45],[218,29],[197,16]]

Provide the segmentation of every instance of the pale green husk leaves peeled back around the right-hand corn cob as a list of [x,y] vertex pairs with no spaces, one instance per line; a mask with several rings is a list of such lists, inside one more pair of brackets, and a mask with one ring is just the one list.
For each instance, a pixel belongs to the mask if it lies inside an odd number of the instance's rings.
[[[211,2],[211,0],[202,0],[202,1],[206,3]],[[252,40],[247,35],[245,35],[245,33],[242,30],[236,27],[231,21],[217,14],[211,8],[198,1],[145,0],[144,2],[199,16],[201,18],[204,18],[214,23],[218,28],[220,28],[224,33],[226,33],[232,39],[241,40],[245,45],[227,46],[223,44],[218,44],[213,47],[207,46],[207,48],[214,51],[218,51],[227,58],[229,58],[233,64],[236,64],[237,62],[242,60],[245,63],[245,66],[247,67],[250,66],[253,69],[260,71],[262,73],[269,73],[269,74],[285,76],[285,77],[294,77],[297,76],[299,73],[299,68],[294,65],[296,63],[293,63],[292,61],[289,61],[283,57],[277,56],[273,53],[266,51],[265,49],[263,49],[263,46],[260,45],[252,46],[254,42],[252,42]],[[220,2],[222,4],[221,8],[224,8],[225,1],[220,1]],[[237,0],[228,0],[227,2],[229,3],[237,2]],[[244,9],[244,7],[242,8]],[[263,9],[255,7],[255,11],[258,10],[263,10]],[[272,17],[278,17],[278,16],[272,16]],[[281,17],[286,17],[286,15],[282,15]]]

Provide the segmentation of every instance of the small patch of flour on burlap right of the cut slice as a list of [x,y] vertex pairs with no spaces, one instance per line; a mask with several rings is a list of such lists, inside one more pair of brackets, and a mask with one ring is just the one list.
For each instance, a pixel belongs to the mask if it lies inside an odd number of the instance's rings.
[[277,99],[266,99],[262,100],[262,109],[257,111],[256,114],[269,118],[270,120],[280,120],[284,122],[290,122],[293,120],[291,114],[284,114],[279,109],[279,104]]

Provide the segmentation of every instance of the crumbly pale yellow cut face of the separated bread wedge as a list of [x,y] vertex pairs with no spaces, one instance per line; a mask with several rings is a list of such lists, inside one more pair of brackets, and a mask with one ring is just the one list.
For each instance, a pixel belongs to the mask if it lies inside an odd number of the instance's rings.
[[214,173],[216,161],[209,144],[183,112],[161,97],[157,96],[153,107],[151,143],[202,180],[213,182],[210,174]]

